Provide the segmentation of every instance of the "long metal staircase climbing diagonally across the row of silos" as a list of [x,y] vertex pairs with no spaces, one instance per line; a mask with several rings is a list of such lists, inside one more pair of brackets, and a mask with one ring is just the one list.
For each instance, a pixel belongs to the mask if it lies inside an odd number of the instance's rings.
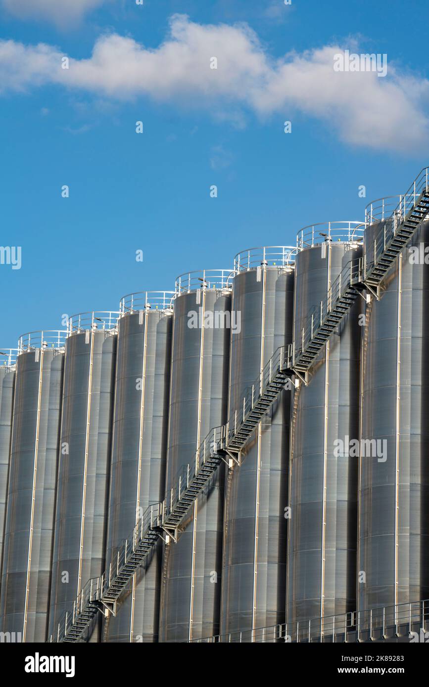
[[[358,294],[369,290],[379,297],[380,284],[395,258],[414,236],[429,213],[429,168],[424,168],[393,214],[380,223],[373,253],[352,260],[331,285],[320,308],[309,314],[297,341],[278,348],[248,387],[241,407],[224,427],[210,431],[200,444],[195,460],[186,466],[178,483],[162,504],[150,506],[135,526],[131,537],[115,552],[109,570],[91,579],[74,601],[73,609],[58,623],[50,642],[78,642],[98,611],[115,613],[126,585],[163,533],[177,541],[177,530],[190,506],[209,484],[225,457],[240,462],[240,452],[252,431],[278,398],[285,385],[298,376],[307,383],[307,373],[325,343],[349,313]],[[291,386],[289,386],[291,388]]]

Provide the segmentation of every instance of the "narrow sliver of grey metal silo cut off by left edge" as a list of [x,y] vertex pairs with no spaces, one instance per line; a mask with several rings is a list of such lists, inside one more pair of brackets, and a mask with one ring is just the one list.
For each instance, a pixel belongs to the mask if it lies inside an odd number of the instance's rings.
[[17,352],[15,348],[0,351],[0,590]]

